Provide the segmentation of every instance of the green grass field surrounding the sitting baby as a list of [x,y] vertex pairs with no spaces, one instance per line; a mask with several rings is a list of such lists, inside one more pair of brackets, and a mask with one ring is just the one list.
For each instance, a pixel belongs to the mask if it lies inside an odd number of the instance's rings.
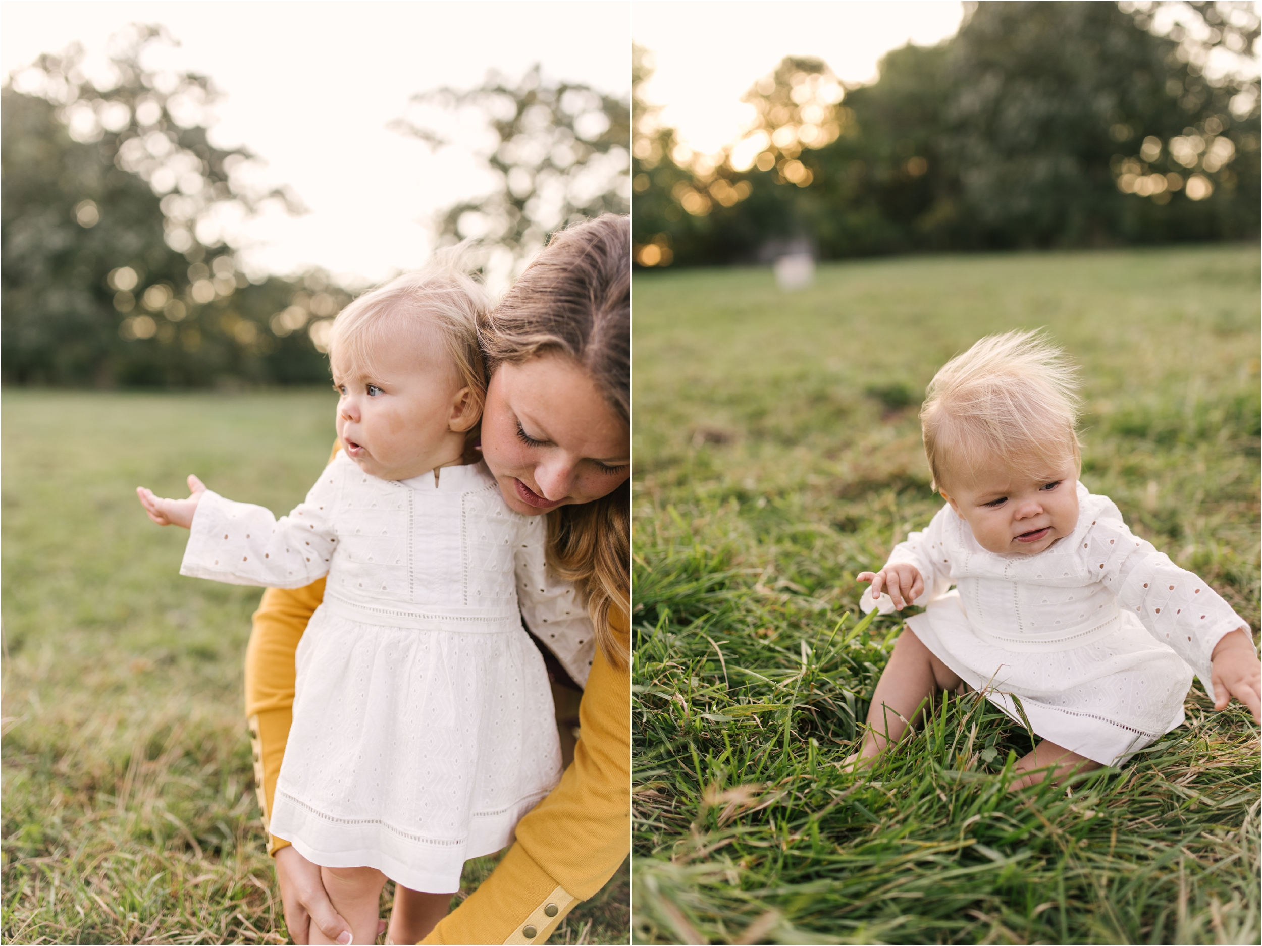
[[1258,729],[1006,791],[1030,734],[948,701],[843,773],[901,631],[854,575],[940,506],[916,411],[977,338],[1083,368],[1083,481],[1258,629],[1254,246],[904,257],[635,281],[637,942],[1253,942]]

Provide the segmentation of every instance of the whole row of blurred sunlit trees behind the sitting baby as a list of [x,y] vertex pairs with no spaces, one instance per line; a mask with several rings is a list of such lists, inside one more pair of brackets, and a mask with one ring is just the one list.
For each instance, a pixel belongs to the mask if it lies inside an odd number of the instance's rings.
[[1248,3],[982,3],[933,48],[846,90],[786,58],[723,155],[689,154],[642,102],[640,266],[923,250],[1252,238],[1259,95]]

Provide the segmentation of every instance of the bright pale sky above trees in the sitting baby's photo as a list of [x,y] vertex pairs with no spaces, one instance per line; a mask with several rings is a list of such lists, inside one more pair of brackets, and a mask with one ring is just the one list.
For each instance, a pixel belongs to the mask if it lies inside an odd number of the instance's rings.
[[814,55],[843,82],[871,82],[877,61],[909,40],[933,45],[959,28],[946,0],[640,0],[631,35],[652,50],[645,97],[694,151],[714,154],[750,117],[741,96],[785,55]]

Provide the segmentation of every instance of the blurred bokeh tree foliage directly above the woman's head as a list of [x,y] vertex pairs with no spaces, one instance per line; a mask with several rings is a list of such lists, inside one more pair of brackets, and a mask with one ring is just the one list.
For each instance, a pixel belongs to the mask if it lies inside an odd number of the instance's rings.
[[452,143],[430,127],[425,107],[472,110],[492,132],[481,156],[497,187],[442,213],[443,243],[480,237],[520,266],[553,231],[630,209],[631,110],[621,98],[578,82],[551,82],[535,66],[516,82],[492,72],[477,88],[422,92],[413,105],[420,115],[394,127],[432,149]]

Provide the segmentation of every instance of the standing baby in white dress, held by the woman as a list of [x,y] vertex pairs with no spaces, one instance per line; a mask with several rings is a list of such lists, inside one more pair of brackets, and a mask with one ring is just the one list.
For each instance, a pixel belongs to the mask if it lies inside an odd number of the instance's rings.
[[[187,499],[138,491],[155,522],[192,530],[180,574],[276,588],[327,575],[298,647],[269,829],[321,865],[355,942],[376,938],[386,878],[433,894],[437,922],[464,860],[510,844],[560,778],[548,675],[521,613],[587,642],[558,648],[574,679],[591,656],[586,609],[545,569],[544,517],[512,512],[486,467],[462,459],[483,402],[488,303],[440,257],[337,317],[342,450],[289,516],[196,477]],[[587,633],[558,633],[570,624]]]

